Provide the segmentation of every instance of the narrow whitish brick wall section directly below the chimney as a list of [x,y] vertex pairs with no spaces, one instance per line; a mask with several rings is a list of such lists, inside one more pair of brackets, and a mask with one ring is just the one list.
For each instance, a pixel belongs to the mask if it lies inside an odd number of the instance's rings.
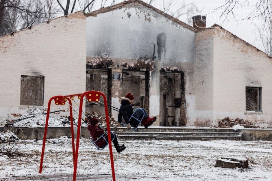
[[213,29],[196,33],[195,120],[188,126],[209,126],[213,120]]

